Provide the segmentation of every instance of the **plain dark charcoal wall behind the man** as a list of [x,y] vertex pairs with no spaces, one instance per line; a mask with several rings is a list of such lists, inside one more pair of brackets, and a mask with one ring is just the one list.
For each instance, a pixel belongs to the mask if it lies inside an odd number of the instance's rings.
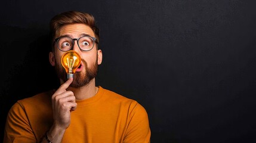
[[94,15],[103,63],[96,84],[140,102],[152,142],[256,142],[254,0],[4,1],[1,138],[17,100],[58,85],[48,22]]

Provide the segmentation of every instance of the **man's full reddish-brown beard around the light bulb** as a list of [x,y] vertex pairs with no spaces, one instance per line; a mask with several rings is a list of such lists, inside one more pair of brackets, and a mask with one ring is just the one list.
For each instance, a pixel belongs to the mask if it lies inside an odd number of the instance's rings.
[[[84,63],[85,73],[82,71],[74,73],[73,82],[69,85],[72,88],[81,88],[82,86],[87,85],[97,75],[97,60],[91,68],[88,67],[87,62],[84,59],[82,59],[81,62]],[[55,62],[55,71],[59,79],[62,79],[64,82],[67,81],[66,70],[62,67],[62,65],[58,64],[57,62]]]

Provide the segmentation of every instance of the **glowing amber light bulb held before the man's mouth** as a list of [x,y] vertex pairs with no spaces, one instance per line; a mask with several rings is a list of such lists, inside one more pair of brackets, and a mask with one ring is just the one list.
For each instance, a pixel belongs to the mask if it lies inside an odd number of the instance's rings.
[[76,69],[81,64],[81,57],[76,51],[67,51],[61,57],[61,64],[66,70],[67,78],[73,77]]

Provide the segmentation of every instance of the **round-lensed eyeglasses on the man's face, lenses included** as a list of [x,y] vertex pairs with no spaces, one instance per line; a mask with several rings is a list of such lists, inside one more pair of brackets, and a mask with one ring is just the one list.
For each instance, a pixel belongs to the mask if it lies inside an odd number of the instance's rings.
[[78,39],[72,39],[68,36],[61,36],[56,38],[54,43],[57,42],[58,49],[65,52],[73,48],[75,45],[75,40],[78,42],[78,47],[81,49],[81,51],[90,51],[93,48],[94,43],[98,43],[97,39],[91,36],[82,36]]

